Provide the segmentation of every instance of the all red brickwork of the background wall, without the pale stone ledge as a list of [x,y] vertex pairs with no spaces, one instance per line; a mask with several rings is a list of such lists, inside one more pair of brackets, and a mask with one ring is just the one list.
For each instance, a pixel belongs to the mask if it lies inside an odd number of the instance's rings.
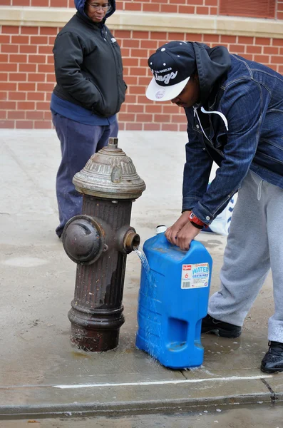
[[[1,0],[1,5],[67,6],[73,0]],[[217,0],[118,1],[119,7],[162,6],[209,7]],[[205,4],[207,6],[205,6]],[[128,5],[128,6],[127,6]],[[281,6],[283,1],[281,2]],[[280,4],[279,4],[280,6]],[[281,7],[280,6],[280,7]],[[282,7],[283,9],[283,7]],[[179,11],[181,9],[178,9]],[[198,12],[200,13],[200,12]],[[51,128],[49,101],[55,83],[53,42],[59,29],[2,26],[0,29],[0,128]],[[259,61],[283,73],[283,39],[242,36],[180,34],[157,31],[113,31],[122,48],[124,76],[128,83],[126,101],[119,113],[120,129],[185,131],[182,109],[145,98],[151,73],[147,59],[161,44],[170,40],[222,44],[235,54]]]

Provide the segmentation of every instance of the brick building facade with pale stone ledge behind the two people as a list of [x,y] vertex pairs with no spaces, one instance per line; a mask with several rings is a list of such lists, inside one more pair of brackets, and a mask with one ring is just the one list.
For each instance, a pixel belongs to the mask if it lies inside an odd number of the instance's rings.
[[[120,129],[185,131],[182,109],[145,98],[148,56],[166,41],[222,44],[283,73],[283,0],[250,0],[246,12],[240,8],[245,1],[225,0],[233,7],[238,1],[238,16],[235,9],[223,14],[222,1],[117,1],[107,24],[121,46],[128,84]],[[273,8],[268,14],[264,2]],[[73,0],[0,0],[0,128],[51,128],[53,42],[74,12]]]

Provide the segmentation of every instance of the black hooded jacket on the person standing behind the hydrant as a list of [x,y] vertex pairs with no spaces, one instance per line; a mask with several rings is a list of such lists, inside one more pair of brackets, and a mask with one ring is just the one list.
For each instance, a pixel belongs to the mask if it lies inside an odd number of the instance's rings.
[[[53,48],[53,93],[107,118],[125,101],[120,47],[104,22],[95,23],[84,14],[84,0],[75,3],[78,12],[58,33]],[[115,1],[109,3],[113,14]]]

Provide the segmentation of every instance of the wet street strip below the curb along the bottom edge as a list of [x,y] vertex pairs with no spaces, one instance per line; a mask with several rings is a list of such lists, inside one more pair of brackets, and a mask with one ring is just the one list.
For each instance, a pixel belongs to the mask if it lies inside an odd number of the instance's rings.
[[283,407],[257,404],[249,408],[201,409],[199,412],[143,414],[130,417],[65,417],[0,421],[0,428],[282,428]]

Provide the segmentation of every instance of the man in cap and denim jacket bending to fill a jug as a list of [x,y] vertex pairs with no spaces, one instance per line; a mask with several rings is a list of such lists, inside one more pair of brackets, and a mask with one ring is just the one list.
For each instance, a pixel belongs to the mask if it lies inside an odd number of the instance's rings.
[[[165,235],[187,250],[238,191],[221,288],[210,297],[202,332],[239,337],[272,270],[275,312],[269,318],[264,372],[283,372],[283,77],[230,54],[224,46],[173,41],[150,56],[147,97],[172,101],[187,116],[182,215]],[[217,169],[207,188],[212,162]]]

